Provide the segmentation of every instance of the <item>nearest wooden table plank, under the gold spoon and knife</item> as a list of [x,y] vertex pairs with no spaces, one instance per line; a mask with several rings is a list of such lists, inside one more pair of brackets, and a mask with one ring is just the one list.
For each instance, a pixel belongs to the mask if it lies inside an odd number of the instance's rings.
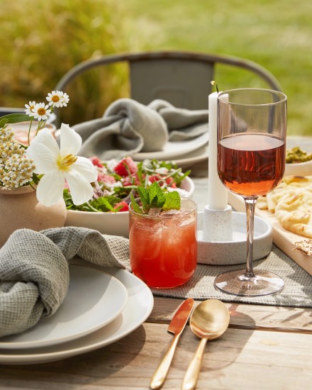
[[[145,323],[118,342],[68,360],[0,367],[1,389],[147,389],[172,335]],[[163,389],[180,389],[199,339],[186,326]],[[228,329],[208,342],[197,389],[308,389],[312,338],[308,335]]]

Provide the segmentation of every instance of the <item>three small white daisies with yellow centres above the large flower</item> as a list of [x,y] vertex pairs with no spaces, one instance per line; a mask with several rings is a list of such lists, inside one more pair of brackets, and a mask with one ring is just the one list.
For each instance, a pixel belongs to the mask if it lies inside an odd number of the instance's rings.
[[69,96],[62,91],[52,91],[46,99],[48,104],[35,103],[35,101],[30,101],[29,104],[25,104],[26,114],[37,121],[46,121],[55,107],[66,107],[69,102]]

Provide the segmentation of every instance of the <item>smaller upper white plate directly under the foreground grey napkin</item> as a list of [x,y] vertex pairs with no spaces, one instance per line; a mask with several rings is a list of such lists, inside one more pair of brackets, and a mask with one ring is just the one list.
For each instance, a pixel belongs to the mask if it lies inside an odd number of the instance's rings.
[[56,313],[23,333],[1,338],[0,348],[44,347],[80,338],[113,321],[127,299],[126,287],[115,277],[71,264],[67,295]]

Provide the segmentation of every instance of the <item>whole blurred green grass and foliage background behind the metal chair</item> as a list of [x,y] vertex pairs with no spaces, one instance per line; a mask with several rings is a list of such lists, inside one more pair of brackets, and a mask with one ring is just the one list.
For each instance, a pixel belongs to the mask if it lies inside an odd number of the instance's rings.
[[[267,68],[288,96],[288,133],[312,135],[311,18],[311,0],[0,0],[0,106],[43,101],[67,69],[89,57],[194,50]],[[67,91],[69,123],[127,96],[125,69],[100,74],[96,87],[94,77]],[[257,83],[222,68],[216,81],[223,90]]]

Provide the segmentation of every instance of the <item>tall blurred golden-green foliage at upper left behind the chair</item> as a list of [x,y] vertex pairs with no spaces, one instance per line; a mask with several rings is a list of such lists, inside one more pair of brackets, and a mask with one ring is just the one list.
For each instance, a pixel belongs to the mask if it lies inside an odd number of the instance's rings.
[[[89,58],[128,50],[123,7],[114,0],[0,0],[0,106],[45,101],[70,68]],[[101,116],[128,94],[126,69],[96,70],[74,82],[62,121]],[[103,92],[104,91],[104,92]],[[74,123],[73,123],[74,121]]]

